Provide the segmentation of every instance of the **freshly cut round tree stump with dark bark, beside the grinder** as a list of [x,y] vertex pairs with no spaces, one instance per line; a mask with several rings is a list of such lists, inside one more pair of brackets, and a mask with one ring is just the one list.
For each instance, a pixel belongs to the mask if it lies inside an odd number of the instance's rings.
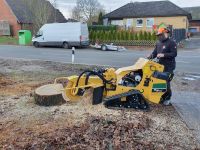
[[34,99],[41,106],[61,105],[66,101],[63,99],[62,84],[47,84],[35,90]]

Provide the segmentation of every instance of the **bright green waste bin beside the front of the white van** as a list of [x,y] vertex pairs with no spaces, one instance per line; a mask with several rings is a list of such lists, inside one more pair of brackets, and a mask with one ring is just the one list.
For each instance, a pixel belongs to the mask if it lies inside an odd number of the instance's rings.
[[31,44],[31,31],[29,30],[19,30],[19,45],[29,45]]

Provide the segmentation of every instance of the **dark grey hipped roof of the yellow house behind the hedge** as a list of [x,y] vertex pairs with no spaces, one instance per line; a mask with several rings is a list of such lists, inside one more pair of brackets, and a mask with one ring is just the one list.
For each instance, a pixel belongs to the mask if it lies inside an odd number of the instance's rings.
[[191,19],[190,13],[170,1],[131,2],[104,15],[104,18],[122,19],[171,16],[188,16]]

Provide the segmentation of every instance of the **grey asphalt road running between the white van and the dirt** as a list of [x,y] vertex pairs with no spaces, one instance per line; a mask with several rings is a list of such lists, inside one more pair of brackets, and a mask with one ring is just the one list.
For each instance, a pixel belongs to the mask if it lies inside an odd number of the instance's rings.
[[[139,57],[145,57],[150,52],[149,50],[115,52],[94,49],[76,49],[75,63],[123,67],[133,65]],[[0,45],[0,58],[38,59],[70,63],[71,50]],[[178,51],[177,71],[200,73],[199,64],[200,49],[181,49]]]

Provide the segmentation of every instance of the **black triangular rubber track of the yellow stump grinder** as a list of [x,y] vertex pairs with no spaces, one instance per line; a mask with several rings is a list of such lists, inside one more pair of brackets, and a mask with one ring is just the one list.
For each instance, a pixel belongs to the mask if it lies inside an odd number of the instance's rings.
[[[126,97],[125,101],[121,98]],[[137,91],[132,90],[126,93],[118,94],[104,99],[105,107],[109,109],[138,109],[149,111],[149,105],[143,95]]]

